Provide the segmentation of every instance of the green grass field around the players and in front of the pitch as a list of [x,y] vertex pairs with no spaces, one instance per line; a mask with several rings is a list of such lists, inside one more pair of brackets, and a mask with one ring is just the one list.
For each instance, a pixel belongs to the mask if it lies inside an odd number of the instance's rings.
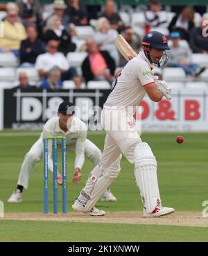
[[[157,157],[159,189],[163,205],[176,211],[201,212],[202,202],[208,200],[207,133],[184,133],[185,142],[177,144],[173,133],[144,133],[142,139],[150,144]],[[38,133],[0,133],[0,200],[5,212],[43,212],[42,160],[35,164],[29,189],[24,190],[23,203],[6,203],[15,189],[19,168],[25,153],[38,138]],[[103,148],[105,135],[89,133],[88,138]],[[60,155],[59,155],[60,156]],[[74,154],[67,154],[67,211],[83,187],[92,163],[85,161],[83,180],[71,183]],[[49,210],[52,212],[52,176],[50,177]],[[121,173],[111,186],[117,202],[98,202],[106,211],[141,211],[139,190],[135,185],[133,166],[121,160]],[[61,210],[61,189],[59,189]],[[208,219],[207,219],[208,221]],[[88,231],[87,231],[88,230]],[[0,221],[0,241],[208,241],[208,228],[168,225],[70,223],[54,221]]]

